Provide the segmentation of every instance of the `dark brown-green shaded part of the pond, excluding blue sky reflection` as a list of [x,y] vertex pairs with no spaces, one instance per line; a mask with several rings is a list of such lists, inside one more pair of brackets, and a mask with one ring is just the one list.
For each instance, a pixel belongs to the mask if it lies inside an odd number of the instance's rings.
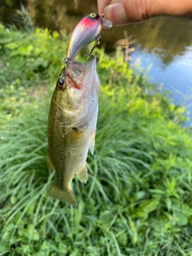
[[[22,0],[22,3],[27,7],[34,23],[38,24],[38,26],[46,26],[50,30],[62,30],[65,28],[68,32],[74,29],[80,18],[98,10],[97,1],[92,0],[71,0],[66,1],[65,4],[58,0],[44,0],[42,2],[38,0]],[[10,13],[17,8],[19,8],[18,1],[2,1],[0,20],[6,23],[10,22]],[[24,14],[26,12],[25,10]],[[26,16],[27,18],[28,16]],[[26,27],[26,29],[28,28]],[[163,63],[165,64],[163,66],[174,63],[175,59],[182,57],[189,50],[187,46],[192,45],[189,35],[189,31],[192,30],[190,20],[163,17],[151,19],[144,23],[132,24],[129,27],[114,28],[113,37],[111,37],[111,30],[103,30],[102,42],[103,38],[105,38],[104,41],[107,42],[106,48],[111,50],[114,42],[119,38],[123,38],[124,30],[134,35],[138,42],[137,45],[142,50],[158,56],[158,59],[162,61],[162,65]]]

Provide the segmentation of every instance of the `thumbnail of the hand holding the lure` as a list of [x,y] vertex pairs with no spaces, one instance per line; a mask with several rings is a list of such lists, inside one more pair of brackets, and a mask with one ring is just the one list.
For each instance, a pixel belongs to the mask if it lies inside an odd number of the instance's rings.
[[115,2],[106,6],[104,10],[105,18],[109,19],[113,25],[123,25],[127,23],[126,11],[121,2]]

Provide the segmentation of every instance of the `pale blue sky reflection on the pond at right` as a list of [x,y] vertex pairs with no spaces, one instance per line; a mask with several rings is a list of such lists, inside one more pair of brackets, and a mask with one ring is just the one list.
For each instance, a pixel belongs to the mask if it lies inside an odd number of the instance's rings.
[[158,54],[141,50],[138,45],[133,54],[131,54],[130,65],[137,71],[134,66],[137,58],[139,58],[141,66],[150,66],[147,78],[150,82],[155,82],[162,85],[162,92],[170,91],[170,99],[174,104],[186,106],[190,122],[186,122],[190,126],[192,120],[192,49],[188,50],[183,55],[174,57],[174,61],[170,65],[165,65]]

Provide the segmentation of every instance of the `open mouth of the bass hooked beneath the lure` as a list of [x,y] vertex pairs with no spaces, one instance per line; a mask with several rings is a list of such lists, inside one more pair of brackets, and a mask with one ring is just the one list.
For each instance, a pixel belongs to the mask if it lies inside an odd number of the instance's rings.
[[82,89],[83,83],[88,75],[91,75],[96,70],[96,58],[90,56],[86,64],[76,60],[70,61],[69,66],[65,68],[66,83],[75,89]]

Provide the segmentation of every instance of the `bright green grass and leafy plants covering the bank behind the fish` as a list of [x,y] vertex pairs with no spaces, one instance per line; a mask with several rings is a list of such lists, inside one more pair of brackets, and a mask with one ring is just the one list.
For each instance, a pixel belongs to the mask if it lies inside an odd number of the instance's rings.
[[62,38],[0,26],[0,255],[192,255],[184,110],[127,68],[118,51],[94,51],[98,130],[88,182],[73,181],[78,207],[48,196],[46,123],[66,53]]

